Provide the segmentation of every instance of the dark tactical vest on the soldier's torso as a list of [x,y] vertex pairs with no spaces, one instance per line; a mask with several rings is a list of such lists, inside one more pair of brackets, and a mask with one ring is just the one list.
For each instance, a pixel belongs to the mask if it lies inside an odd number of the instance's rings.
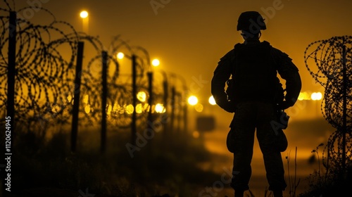
[[268,42],[237,44],[232,62],[232,96],[235,104],[244,101],[279,103],[283,100],[282,84],[277,77],[277,66]]

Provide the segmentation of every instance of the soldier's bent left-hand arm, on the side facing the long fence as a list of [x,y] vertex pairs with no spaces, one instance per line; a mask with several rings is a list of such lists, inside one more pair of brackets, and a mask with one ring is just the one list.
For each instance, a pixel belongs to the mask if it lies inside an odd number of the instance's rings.
[[232,112],[230,109],[230,102],[227,101],[227,94],[225,93],[225,83],[230,78],[232,67],[232,52],[230,51],[224,57],[222,57],[218,63],[218,66],[215,68],[213,78],[211,80],[211,94],[215,98],[215,102],[229,112]]

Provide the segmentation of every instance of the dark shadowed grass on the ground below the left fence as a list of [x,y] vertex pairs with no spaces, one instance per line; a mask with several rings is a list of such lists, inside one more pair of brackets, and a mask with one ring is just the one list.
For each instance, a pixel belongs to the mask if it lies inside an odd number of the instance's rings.
[[207,185],[218,174],[196,166],[210,158],[201,141],[187,134],[153,139],[134,152],[126,144],[130,132],[108,132],[106,153],[100,152],[99,132],[81,131],[77,152],[70,152],[70,135],[59,132],[50,140],[29,132],[18,134],[13,153],[13,189],[69,189],[109,196],[190,196],[195,185]]

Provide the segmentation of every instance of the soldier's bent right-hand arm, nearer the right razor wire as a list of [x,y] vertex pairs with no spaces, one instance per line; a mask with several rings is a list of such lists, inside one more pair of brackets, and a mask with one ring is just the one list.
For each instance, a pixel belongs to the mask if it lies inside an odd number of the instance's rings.
[[286,81],[286,95],[284,108],[294,106],[301,91],[302,82],[298,68],[286,53],[278,49],[272,49],[272,55],[277,63],[277,72]]

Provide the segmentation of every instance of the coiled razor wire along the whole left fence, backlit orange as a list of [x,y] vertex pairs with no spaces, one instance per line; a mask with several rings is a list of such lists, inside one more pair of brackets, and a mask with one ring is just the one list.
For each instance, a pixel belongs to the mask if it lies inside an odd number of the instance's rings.
[[[5,1],[6,2],[6,1]],[[9,5],[8,5],[9,6]],[[20,9],[19,11],[24,10]],[[18,18],[16,34],[16,74],[15,74],[15,118],[23,128],[42,130],[54,125],[70,123],[73,110],[73,95],[76,91],[74,78],[77,43],[85,42],[93,47],[95,54],[83,65],[80,87],[80,117],[82,125],[92,125],[101,121],[101,52],[103,44],[96,37],[90,37],[64,21],[58,21],[54,15],[49,25],[34,25],[29,20]],[[7,49],[9,31],[9,12],[11,8],[1,8],[0,15],[0,109],[5,115],[7,103]],[[117,37],[119,38],[119,37]],[[122,39],[120,44],[128,46]],[[122,46],[121,45],[121,46]],[[113,76],[108,75],[108,98],[106,110],[108,123],[117,127],[128,127],[131,122],[132,87],[122,82],[119,76],[119,64],[115,51],[108,51],[108,67],[115,67]],[[86,46],[84,46],[86,49]],[[137,58],[140,76],[137,77],[138,89],[146,89],[145,60]],[[142,104],[142,103],[141,103]],[[144,103],[144,110],[150,106]],[[133,110],[133,108],[132,108]],[[139,124],[144,122],[146,113],[138,114]]]

